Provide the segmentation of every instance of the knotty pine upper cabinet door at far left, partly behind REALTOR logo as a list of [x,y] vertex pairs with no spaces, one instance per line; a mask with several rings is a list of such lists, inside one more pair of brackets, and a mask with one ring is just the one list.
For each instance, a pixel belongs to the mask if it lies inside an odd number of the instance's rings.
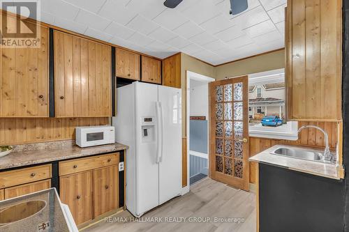
[[40,47],[0,48],[0,117],[48,117],[49,29]]

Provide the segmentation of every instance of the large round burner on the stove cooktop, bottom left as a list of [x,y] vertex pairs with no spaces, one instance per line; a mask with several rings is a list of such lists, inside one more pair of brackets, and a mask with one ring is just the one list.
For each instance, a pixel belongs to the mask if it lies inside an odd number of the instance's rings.
[[27,217],[36,215],[45,208],[45,201],[26,201],[0,211],[0,226],[18,222]]

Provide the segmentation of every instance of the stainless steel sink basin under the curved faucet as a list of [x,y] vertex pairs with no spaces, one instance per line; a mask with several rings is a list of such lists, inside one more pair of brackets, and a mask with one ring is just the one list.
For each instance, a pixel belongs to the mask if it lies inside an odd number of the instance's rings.
[[285,157],[292,157],[301,160],[324,162],[322,159],[323,153],[317,150],[308,150],[306,148],[279,147],[273,150],[271,154],[283,155]]

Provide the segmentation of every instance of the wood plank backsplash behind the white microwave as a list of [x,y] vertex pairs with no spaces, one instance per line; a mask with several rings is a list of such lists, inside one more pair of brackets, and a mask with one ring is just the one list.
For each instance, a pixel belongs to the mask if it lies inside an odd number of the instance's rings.
[[0,118],[0,145],[75,139],[75,127],[108,125],[109,118]]

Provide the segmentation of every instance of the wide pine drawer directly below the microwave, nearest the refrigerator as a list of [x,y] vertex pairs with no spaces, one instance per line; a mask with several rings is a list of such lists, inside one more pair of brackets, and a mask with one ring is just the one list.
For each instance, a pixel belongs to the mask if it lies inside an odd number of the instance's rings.
[[59,176],[98,169],[119,163],[119,153],[59,162]]

